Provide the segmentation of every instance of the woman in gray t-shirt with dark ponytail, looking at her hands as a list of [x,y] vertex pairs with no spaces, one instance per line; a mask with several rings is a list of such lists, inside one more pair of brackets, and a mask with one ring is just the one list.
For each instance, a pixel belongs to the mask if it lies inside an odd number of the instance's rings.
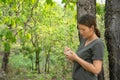
[[66,58],[74,63],[72,79],[98,80],[97,75],[103,65],[104,44],[95,17],[89,14],[81,16],[77,28],[82,36],[78,50],[74,52],[69,47],[64,49]]

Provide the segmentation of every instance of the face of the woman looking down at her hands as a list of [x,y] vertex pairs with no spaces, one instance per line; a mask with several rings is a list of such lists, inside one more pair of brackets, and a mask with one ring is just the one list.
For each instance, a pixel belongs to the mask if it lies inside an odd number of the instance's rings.
[[94,27],[88,27],[86,25],[78,24],[78,30],[80,31],[80,34],[82,35],[83,38],[88,39],[93,35],[94,32]]

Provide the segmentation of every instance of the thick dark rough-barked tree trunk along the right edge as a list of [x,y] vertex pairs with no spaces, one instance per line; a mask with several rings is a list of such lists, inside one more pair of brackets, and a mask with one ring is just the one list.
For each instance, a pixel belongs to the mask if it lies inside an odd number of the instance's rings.
[[106,0],[105,39],[110,80],[120,80],[120,1]]

